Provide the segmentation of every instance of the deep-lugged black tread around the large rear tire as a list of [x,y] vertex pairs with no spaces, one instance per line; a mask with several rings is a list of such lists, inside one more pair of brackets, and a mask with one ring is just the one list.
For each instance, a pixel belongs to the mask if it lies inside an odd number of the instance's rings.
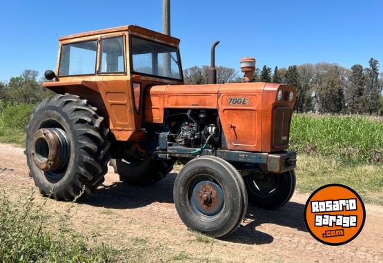
[[[65,189],[58,193],[50,195],[47,189],[44,189],[37,180],[35,184],[39,187],[43,195],[52,196],[57,200],[73,200],[84,189],[83,195],[89,195],[104,182],[104,175],[108,171],[107,164],[110,160],[110,142],[108,141],[108,128],[103,125],[104,118],[97,115],[97,108],[90,106],[88,101],[81,99],[77,95],[53,95],[43,99],[40,104],[35,106],[32,115],[30,115],[30,123],[39,114],[43,114],[45,107],[61,108],[63,113],[70,119],[72,132],[77,138],[76,148],[79,153],[78,161],[74,168],[75,176],[73,177]],[[30,124],[26,126],[27,138],[26,144],[32,136],[30,133]],[[32,159],[28,157],[28,166],[32,164]],[[30,169],[30,174],[33,173]]]

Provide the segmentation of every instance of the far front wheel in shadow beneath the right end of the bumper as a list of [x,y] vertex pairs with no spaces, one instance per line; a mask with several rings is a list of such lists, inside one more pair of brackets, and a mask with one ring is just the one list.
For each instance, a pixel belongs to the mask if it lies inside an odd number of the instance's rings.
[[276,209],[288,202],[295,191],[295,172],[248,175],[245,184],[249,202],[259,208]]

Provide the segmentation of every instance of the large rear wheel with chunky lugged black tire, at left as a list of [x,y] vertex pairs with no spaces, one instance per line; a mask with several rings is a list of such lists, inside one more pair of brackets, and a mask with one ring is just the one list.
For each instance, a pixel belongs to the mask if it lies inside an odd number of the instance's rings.
[[[110,160],[108,129],[96,108],[75,95],[54,95],[35,106],[26,126],[26,156],[40,193],[57,200],[73,200],[89,195],[104,182]],[[51,148],[46,133],[59,134],[66,141],[59,166],[50,171],[39,166],[46,162]],[[41,137],[36,137],[41,133]],[[65,157],[65,158],[64,158]]]

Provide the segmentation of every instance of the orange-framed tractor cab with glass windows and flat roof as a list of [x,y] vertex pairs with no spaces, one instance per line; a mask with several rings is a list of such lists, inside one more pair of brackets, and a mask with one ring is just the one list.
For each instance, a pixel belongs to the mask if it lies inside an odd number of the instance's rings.
[[60,37],[55,75],[79,79],[143,79],[182,82],[179,39],[140,28],[121,26]]

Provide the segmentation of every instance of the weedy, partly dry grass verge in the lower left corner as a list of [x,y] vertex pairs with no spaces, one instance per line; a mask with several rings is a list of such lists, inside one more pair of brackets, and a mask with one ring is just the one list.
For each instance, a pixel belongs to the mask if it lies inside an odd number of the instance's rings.
[[185,251],[167,249],[164,244],[153,244],[149,238],[141,236],[131,237],[122,248],[115,247],[116,242],[112,242],[112,246],[104,243],[90,246],[94,236],[85,236],[70,227],[70,220],[75,217],[72,211],[77,206],[75,202],[57,217],[57,212],[47,204],[48,198],[43,198],[41,204],[41,197],[35,199],[35,193],[20,196],[5,192],[0,196],[0,262],[209,261]]

